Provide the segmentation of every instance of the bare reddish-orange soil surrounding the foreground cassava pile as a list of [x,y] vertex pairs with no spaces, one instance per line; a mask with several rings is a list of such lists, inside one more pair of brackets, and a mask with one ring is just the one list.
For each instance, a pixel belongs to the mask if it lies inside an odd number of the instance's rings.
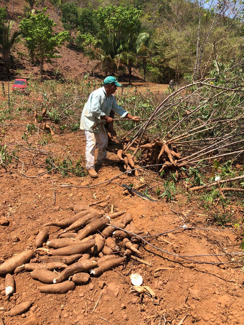
[[[17,122],[17,121],[14,121]],[[19,121],[21,122],[21,121]],[[22,122],[23,123],[23,122]],[[11,127],[1,136],[3,143],[21,141],[24,127]],[[54,136],[52,151],[72,154],[75,159],[84,161],[84,137],[81,132]],[[46,146],[47,149],[48,146]],[[115,160],[115,155],[109,153]],[[41,162],[28,156],[26,175],[35,176],[45,171]],[[17,175],[21,168],[13,172],[0,169],[0,216],[7,217],[8,226],[0,226],[0,257],[5,259],[13,253],[20,253],[34,248],[38,229],[50,220],[68,217],[73,212],[67,209],[70,203],[94,201],[110,194],[106,213],[111,204],[114,210],[126,209],[133,215],[136,227],[150,234],[177,228],[183,215],[188,214],[185,222],[196,227],[209,227],[207,216],[196,202],[190,202],[179,195],[175,203],[160,201],[153,203],[141,198],[123,196],[123,189],[118,184],[139,184],[138,179],[119,176],[114,182],[91,188],[64,188],[61,184],[88,186],[103,182],[120,173],[119,165],[102,166],[98,180],[88,176],[84,178],[63,178],[61,175],[44,174],[38,178],[25,178]],[[140,175],[143,176],[143,173]],[[53,193],[55,191],[55,204]],[[190,211],[190,212],[189,212]],[[56,235],[58,228],[50,227],[50,238]],[[19,241],[18,241],[19,240]],[[183,255],[224,253],[239,251],[238,238],[233,232],[209,230],[176,230],[167,236],[160,236],[151,241],[157,247],[172,253]],[[5,324],[243,324],[243,273],[239,267],[226,268],[217,265],[188,263],[168,256],[145,245],[140,248],[141,258],[151,263],[146,266],[130,260],[128,264],[118,266],[100,276],[92,278],[88,285],[76,286],[66,294],[54,295],[40,293],[38,283],[30,273],[21,272],[14,279],[16,294],[8,300],[4,293],[0,295],[0,316]],[[216,257],[201,257],[206,261],[218,261]],[[221,256],[220,256],[220,260]],[[225,258],[223,258],[225,260]],[[241,265],[240,265],[241,266]],[[158,270],[159,268],[166,268]],[[169,268],[169,269],[167,269]],[[143,283],[153,289],[156,298],[140,296],[130,292],[131,272],[137,271],[143,277]],[[1,288],[4,279],[0,279]],[[3,290],[3,288],[1,289]],[[102,293],[102,295],[101,295]],[[101,296],[95,311],[92,309]],[[31,300],[31,309],[15,317],[8,316],[11,307],[23,301]],[[181,320],[184,319],[182,322]]]

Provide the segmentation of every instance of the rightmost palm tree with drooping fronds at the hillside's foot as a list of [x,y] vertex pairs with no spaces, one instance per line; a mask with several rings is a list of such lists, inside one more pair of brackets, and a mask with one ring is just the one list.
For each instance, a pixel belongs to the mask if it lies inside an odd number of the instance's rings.
[[154,64],[153,60],[150,58],[151,52],[148,48],[149,42],[150,42],[149,34],[142,32],[138,35],[136,44],[135,44],[138,59],[142,60],[143,80],[144,81],[145,81],[145,77],[146,77],[147,62],[151,62],[152,64]]

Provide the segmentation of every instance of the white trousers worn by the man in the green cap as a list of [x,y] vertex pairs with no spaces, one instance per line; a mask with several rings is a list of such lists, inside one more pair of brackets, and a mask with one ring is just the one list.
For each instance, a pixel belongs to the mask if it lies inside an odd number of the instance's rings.
[[95,168],[95,149],[98,148],[97,160],[107,157],[108,136],[103,128],[99,134],[85,130],[86,145],[86,167],[88,169]]

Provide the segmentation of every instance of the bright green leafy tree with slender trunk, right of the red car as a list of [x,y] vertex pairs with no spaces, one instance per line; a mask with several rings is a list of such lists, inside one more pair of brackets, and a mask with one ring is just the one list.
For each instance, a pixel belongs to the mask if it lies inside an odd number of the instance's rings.
[[60,58],[58,48],[68,40],[68,32],[53,34],[55,23],[45,15],[45,9],[37,11],[30,19],[20,21],[20,30],[24,35],[26,46],[29,51],[33,51],[34,57],[40,61],[40,74],[43,79],[43,64],[45,61]]

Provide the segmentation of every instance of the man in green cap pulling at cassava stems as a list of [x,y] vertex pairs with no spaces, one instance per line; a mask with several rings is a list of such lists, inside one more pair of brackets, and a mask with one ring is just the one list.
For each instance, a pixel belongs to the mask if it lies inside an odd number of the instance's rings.
[[107,156],[108,136],[104,128],[105,123],[113,122],[109,117],[111,110],[122,118],[128,118],[135,122],[140,120],[138,116],[130,115],[120,107],[113,96],[117,87],[122,86],[115,77],[104,79],[103,86],[94,90],[82,111],[80,129],[85,131],[86,137],[86,168],[91,177],[97,177],[95,171],[95,149],[98,147],[97,162],[101,162]]

